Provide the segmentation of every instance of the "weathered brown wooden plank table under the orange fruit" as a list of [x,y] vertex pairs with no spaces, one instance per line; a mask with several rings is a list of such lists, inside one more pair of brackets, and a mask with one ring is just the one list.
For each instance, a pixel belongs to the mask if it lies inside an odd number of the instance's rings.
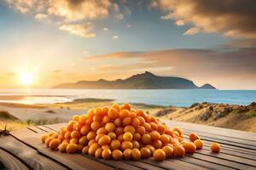
[[[7,169],[256,169],[256,133],[247,133],[218,127],[208,127],[185,122],[166,121],[168,126],[183,129],[186,138],[190,132],[198,133],[204,140],[202,150],[183,158],[154,161],[112,161],[96,159],[82,154],[51,151],[41,143],[43,133],[56,131],[63,124],[27,127],[0,137],[1,166]],[[209,150],[211,142],[221,144],[219,153]]]

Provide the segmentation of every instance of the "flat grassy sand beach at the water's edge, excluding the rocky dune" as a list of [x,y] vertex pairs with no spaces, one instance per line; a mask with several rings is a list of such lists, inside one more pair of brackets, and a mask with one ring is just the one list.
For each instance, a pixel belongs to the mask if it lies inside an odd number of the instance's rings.
[[[5,124],[10,128],[20,128],[31,125],[53,124],[67,122],[74,115],[86,113],[89,109],[113,105],[112,99],[74,99],[71,102],[55,104],[19,104],[0,103],[0,128]],[[132,104],[148,114],[154,114],[165,108],[161,105]],[[8,116],[6,116],[8,114]],[[9,118],[14,116],[15,118]],[[7,118],[6,118],[7,117]]]

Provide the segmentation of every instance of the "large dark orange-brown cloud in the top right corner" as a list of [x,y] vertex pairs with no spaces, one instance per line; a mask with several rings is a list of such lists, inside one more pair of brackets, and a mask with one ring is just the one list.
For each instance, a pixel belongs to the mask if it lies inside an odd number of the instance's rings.
[[256,1],[253,0],[155,0],[166,16],[184,20],[204,32],[256,38]]

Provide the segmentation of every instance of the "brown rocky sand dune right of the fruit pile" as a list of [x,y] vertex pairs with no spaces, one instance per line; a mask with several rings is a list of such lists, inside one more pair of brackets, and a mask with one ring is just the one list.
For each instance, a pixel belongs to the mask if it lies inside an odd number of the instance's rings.
[[251,105],[201,103],[191,105],[189,108],[166,108],[156,115],[179,122],[256,132],[256,103]]

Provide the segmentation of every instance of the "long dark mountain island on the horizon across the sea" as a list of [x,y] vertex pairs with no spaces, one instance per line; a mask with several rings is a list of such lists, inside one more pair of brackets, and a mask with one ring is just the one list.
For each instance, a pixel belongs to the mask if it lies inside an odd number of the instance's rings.
[[197,87],[194,82],[180,77],[159,77],[146,71],[126,79],[107,81],[80,81],[74,83],[63,83],[53,88],[96,88],[96,89],[216,89],[210,84]]

